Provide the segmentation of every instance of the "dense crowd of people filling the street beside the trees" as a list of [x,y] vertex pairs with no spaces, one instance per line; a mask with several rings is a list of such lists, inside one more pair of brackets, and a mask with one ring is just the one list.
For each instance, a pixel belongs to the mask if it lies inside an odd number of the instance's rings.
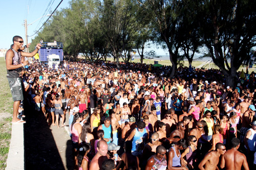
[[75,169],[256,167],[254,72],[230,87],[217,69],[120,65],[33,61],[19,74],[49,125],[69,126]]

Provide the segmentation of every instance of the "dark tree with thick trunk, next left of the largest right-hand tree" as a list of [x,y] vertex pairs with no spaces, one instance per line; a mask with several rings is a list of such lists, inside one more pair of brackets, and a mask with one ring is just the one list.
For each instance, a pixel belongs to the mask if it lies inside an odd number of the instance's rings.
[[169,77],[175,75],[179,48],[181,47],[182,35],[182,1],[172,0],[147,0],[141,1],[142,7],[147,9],[148,17],[151,18],[154,37],[158,43],[164,43],[169,51],[172,72]]

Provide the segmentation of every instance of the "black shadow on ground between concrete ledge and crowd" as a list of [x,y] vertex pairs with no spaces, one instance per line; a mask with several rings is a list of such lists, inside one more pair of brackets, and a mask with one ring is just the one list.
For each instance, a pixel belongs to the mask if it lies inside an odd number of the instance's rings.
[[37,113],[31,108],[28,108],[25,114],[27,122],[24,125],[26,169],[67,169],[68,165],[63,165],[52,130],[44,114]]

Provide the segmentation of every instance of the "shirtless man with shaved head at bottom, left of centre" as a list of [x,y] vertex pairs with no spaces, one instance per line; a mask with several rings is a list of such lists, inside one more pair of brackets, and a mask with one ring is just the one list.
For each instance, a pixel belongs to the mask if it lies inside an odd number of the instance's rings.
[[104,160],[108,159],[108,144],[105,140],[99,140],[97,143],[97,153],[90,163],[90,170],[99,170]]

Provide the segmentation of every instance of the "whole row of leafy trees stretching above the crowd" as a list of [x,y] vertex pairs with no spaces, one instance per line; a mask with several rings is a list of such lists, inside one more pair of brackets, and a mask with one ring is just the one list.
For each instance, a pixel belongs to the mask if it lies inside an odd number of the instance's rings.
[[[78,54],[96,61],[113,57],[128,62],[137,51],[143,59],[156,56],[145,45],[157,43],[169,53],[176,75],[181,57],[193,62],[206,47],[228,85],[255,46],[255,1],[218,0],[72,0],[70,7],[55,12],[32,40],[63,43],[66,59]],[[33,49],[30,49],[33,50]]]

